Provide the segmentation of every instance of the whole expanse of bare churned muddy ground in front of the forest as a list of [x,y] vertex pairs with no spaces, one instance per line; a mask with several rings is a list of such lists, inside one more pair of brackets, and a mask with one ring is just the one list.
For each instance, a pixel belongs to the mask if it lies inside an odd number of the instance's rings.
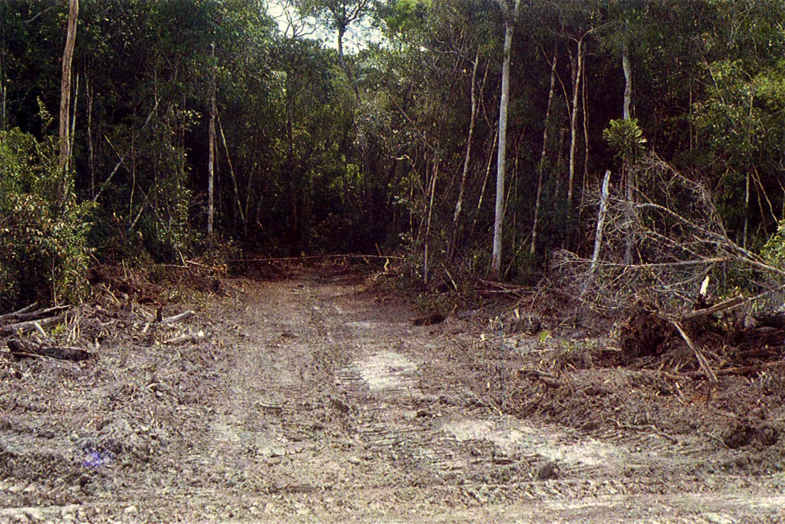
[[0,522],[785,522],[775,369],[603,367],[612,337],[484,310],[416,326],[334,270],[117,282],[47,333],[97,358],[0,355]]

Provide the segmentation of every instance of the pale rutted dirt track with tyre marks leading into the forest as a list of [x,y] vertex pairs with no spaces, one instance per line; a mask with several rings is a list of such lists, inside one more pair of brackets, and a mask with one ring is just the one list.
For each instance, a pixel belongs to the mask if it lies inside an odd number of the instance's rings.
[[[177,351],[185,371],[197,362],[188,355],[214,352],[206,383],[190,400],[161,388],[161,402],[178,399],[170,422],[154,409],[155,422],[125,417],[158,428],[145,468],[126,443],[125,468],[82,475],[96,487],[49,501],[24,499],[18,469],[0,480],[0,522],[782,522],[782,473],[708,474],[694,467],[705,458],[697,439],[606,441],[501,414],[469,378],[501,355],[470,354],[476,333],[458,321],[412,326],[410,309],[374,300],[356,278],[238,286],[244,294],[201,315],[225,319],[225,348]],[[177,355],[156,351],[152,380],[165,383]],[[120,428],[111,406],[93,407]],[[5,453],[16,443],[16,460],[24,445],[11,430],[35,425],[27,415],[6,413],[0,442]],[[31,479],[25,489],[47,482]]]

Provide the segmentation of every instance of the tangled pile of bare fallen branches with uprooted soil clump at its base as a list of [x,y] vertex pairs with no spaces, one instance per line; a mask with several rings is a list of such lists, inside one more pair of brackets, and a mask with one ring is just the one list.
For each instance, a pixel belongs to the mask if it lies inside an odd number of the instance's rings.
[[781,358],[785,271],[732,240],[706,187],[648,154],[605,189],[593,255],[560,251],[553,270],[580,307],[620,321],[623,363],[682,349],[677,369],[716,380]]

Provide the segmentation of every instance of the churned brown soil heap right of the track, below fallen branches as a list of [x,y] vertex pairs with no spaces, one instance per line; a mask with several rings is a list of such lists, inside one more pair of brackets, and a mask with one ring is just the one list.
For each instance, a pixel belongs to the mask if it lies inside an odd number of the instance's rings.
[[[753,474],[783,471],[785,332],[772,339],[779,326],[745,329],[717,315],[697,315],[683,327],[716,383],[674,322],[638,302],[612,338],[554,326],[553,318],[535,336],[488,333],[473,353],[493,355],[495,364],[476,370],[475,391],[490,394],[506,413],[591,435],[700,442],[713,457],[707,471],[713,464]],[[759,340],[779,342],[755,347]],[[728,453],[746,458],[734,461]]]

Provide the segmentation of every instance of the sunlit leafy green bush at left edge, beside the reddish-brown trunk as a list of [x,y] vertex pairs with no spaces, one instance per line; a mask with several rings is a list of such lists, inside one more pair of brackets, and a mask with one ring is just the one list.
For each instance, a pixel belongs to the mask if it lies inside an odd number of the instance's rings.
[[57,143],[0,131],[0,307],[86,293],[89,205],[57,168]]

